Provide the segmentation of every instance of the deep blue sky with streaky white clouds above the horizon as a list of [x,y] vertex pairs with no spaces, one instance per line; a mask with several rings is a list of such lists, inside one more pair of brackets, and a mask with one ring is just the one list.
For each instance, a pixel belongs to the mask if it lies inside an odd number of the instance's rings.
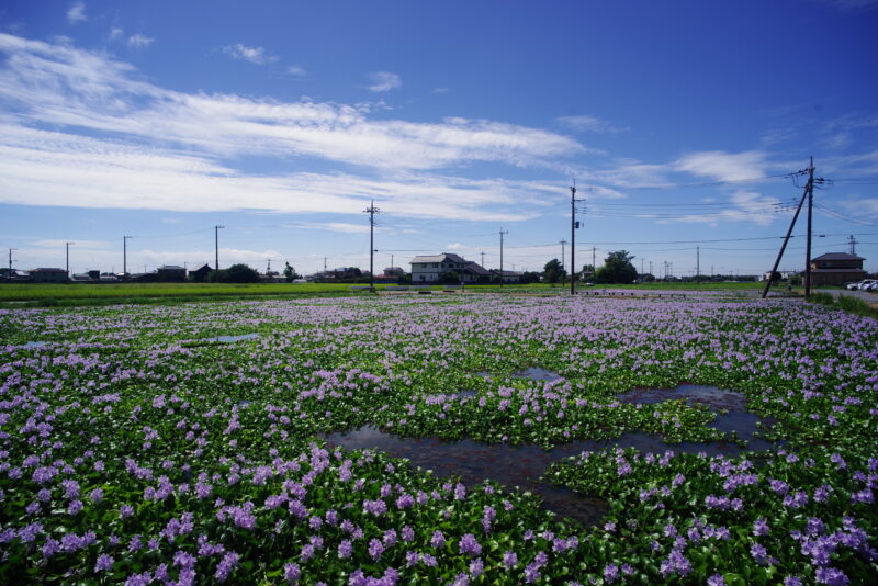
[[223,225],[221,266],[368,268],[374,199],[379,270],[495,268],[500,229],[540,270],[575,178],[577,266],[756,273],[813,155],[813,256],[855,235],[878,271],[877,25],[871,0],[5,2],[0,245],[121,271],[128,235],[130,270],[192,268]]

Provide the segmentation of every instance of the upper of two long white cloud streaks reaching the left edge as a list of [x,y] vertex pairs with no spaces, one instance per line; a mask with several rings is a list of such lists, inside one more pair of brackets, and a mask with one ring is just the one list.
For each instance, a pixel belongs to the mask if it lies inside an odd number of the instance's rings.
[[191,94],[140,81],[128,64],[72,47],[0,35],[0,101],[19,124],[85,128],[219,157],[306,156],[380,169],[471,161],[553,167],[572,138],[485,120],[372,120],[373,105]]

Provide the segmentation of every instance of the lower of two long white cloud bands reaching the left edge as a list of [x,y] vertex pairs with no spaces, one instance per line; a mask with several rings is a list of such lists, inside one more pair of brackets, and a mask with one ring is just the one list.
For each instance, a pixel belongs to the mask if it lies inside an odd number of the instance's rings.
[[10,204],[349,214],[375,199],[401,216],[513,222],[533,216],[521,211],[522,200],[558,191],[537,182],[408,172],[250,177],[191,153],[3,124],[0,135],[0,202]]

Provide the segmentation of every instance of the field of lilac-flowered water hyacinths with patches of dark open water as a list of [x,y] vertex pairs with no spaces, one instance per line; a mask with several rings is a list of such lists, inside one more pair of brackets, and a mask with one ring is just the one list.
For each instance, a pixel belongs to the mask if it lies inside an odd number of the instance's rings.
[[878,322],[822,306],[0,309],[0,358],[3,584],[878,575]]

